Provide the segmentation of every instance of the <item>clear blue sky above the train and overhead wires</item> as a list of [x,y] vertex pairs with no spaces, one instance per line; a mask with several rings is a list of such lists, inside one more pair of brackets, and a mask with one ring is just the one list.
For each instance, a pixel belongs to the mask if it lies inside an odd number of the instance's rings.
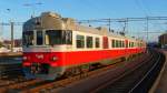
[[[39,2],[42,4],[37,4]],[[24,4],[31,6],[26,7]],[[55,11],[62,17],[78,20],[146,16],[165,17],[167,16],[167,0],[1,0],[0,22],[9,22],[9,20],[24,22],[32,12],[39,16],[43,11]],[[16,38],[20,38],[21,27],[16,28],[16,33],[18,33]],[[1,29],[4,30],[4,27]],[[9,33],[0,32],[0,34],[10,38]]]

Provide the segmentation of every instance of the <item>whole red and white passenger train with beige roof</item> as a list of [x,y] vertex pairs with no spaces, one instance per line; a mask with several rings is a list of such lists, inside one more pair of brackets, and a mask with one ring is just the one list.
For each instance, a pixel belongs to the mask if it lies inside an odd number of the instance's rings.
[[105,28],[84,27],[52,12],[28,20],[22,39],[23,71],[30,79],[55,80],[146,50],[141,40],[114,34]]

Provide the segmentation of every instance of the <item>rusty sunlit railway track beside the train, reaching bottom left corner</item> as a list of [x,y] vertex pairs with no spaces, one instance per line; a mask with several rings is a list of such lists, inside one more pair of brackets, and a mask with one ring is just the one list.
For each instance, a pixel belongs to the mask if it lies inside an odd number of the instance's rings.
[[80,75],[76,75],[72,78],[68,78],[68,79],[58,79],[57,81],[42,81],[42,80],[22,80],[20,82],[14,82],[14,83],[10,83],[7,85],[2,85],[0,86],[0,92],[2,93],[8,93],[8,92],[21,92],[21,93],[35,93],[35,92],[41,92],[41,91],[50,91],[52,89],[59,89],[59,87],[63,87],[68,84],[71,84],[73,82],[87,79],[88,76],[91,75],[96,75],[100,72],[107,71],[108,69],[111,69],[114,66],[124,64],[124,62],[117,63],[117,64],[112,64],[110,66],[107,68],[102,68],[102,69],[98,69],[95,71],[91,71],[89,73],[82,73]]

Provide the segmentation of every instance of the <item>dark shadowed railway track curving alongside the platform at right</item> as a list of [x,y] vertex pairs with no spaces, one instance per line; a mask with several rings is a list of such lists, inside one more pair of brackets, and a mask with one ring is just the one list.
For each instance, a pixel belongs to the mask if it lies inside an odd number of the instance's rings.
[[160,52],[151,52],[151,58],[140,65],[117,78],[115,82],[106,82],[92,92],[97,93],[147,93],[158,75],[165,56]]

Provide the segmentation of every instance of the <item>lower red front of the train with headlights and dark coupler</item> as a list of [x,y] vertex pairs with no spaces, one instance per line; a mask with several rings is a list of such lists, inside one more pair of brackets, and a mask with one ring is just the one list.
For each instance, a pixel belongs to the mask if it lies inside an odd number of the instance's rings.
[[58,58],[49,53],[23,53],[23,72],[27,79],[55,80],[62,70]]

